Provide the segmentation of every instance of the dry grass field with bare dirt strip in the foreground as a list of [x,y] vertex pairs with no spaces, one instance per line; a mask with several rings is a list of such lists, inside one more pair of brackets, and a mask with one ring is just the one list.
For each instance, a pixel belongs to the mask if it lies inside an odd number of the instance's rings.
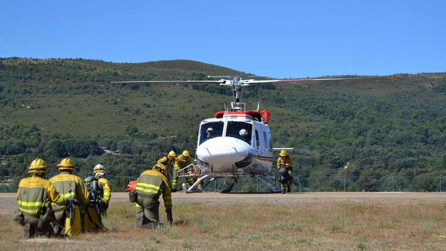
[[24,239],[14,195],[0,194],[0,249],[446,250],[446,194],[175,193],[173,203],[162,230],[135,228],[134,205],[113,194],[108,232]]

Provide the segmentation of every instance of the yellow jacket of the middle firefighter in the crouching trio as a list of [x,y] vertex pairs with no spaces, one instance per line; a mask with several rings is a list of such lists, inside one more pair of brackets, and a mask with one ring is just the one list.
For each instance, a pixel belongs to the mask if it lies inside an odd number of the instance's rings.
[[[69,174],[68,172],[61,172],[56,176],[50,178],[57,192],[65,200],[71,195],[73,198],[79,200],[83,205],[87,205],[90,201],[87,186],[81,177]],[[70,191],[71,186],[71,193]]]

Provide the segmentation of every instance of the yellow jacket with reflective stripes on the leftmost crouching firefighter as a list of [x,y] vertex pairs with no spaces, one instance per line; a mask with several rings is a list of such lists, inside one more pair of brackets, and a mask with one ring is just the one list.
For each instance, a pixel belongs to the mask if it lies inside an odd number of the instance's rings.
[[48,207],[50,202],[58,205],[65,204],[63,197],[59,195],[53,184],[39,176],[22,178],[16,198],[19,210],[33,217],[39,217],[42,208]]

